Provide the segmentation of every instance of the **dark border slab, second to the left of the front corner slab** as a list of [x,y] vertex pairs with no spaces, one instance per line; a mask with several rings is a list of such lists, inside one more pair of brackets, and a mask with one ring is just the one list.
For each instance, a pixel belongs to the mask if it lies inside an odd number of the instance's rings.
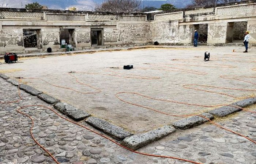
[[89,113],[64,102],[58,102],[54,105],[54,108],[75,121],[80,121],[90,116]]

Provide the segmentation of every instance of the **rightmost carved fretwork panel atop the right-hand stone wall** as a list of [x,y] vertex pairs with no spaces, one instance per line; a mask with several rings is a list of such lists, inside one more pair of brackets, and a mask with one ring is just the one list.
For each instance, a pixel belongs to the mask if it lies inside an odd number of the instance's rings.
[[229,14],[237,14],[237,13],[253,13],[255,11],[256,11],[256,4],[238,5],[238,6],[217,8],[217,15],[229,15]]

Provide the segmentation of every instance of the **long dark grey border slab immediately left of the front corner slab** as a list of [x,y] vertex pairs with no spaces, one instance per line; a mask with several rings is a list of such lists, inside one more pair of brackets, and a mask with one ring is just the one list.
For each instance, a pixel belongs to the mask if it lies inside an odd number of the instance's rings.
[[86,122],[117,140],[123,140],[132,135],[123,128],[98,117],[89,117],[86,119]]

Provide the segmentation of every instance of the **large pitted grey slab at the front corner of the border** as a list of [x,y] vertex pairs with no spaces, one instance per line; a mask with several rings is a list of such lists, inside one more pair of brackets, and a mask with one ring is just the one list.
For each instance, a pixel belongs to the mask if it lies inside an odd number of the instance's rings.
[[171,133],[174,133],[175,131],[176,129],[172,126],[165,125],[161,128],[151,130],[147,133],[136,134],[131,137],[127,137],[121,142],[121,145],[129,149],[136,150]]

